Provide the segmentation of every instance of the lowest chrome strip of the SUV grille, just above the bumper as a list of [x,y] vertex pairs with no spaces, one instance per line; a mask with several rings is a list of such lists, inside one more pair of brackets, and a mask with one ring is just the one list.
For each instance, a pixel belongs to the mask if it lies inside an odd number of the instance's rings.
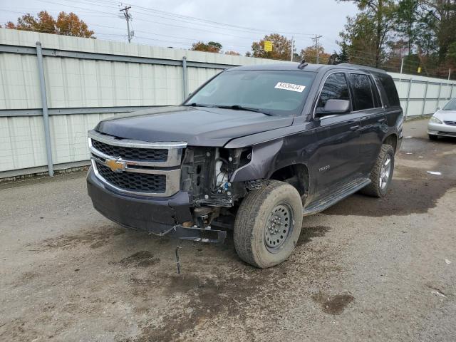
[[108,182],[103,178],[102,175],[98,172],[97,165],[95,162],[95,159],[91,159],[92,162],[92,167],[93,167],[93,172],[95,172],[95,176],[101,180],[105,185],[108,187],[112,187],[114,190],[121,192],[123,194],[128,194],[128,195],[136,195],[136,196],[147,196],[147,197],[170,197],[174,195],[176,192],[179,191],[180,189],[180,169],[177,170],[150,170],[151,174],[156,174],[156,175],[166,175],[166,189],[165,192],[138,192],[138,191],[132,191],[132,190],[125,190],[120,187],[116,187],[112,183]]

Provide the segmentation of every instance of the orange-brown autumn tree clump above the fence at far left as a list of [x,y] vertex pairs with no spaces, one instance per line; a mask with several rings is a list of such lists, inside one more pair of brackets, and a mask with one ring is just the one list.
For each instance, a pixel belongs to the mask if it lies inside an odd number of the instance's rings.
[[69,14],[60,12],[57,20],[53,19],[47,11],[39,12],[37,17],[31,14],[24,14],[24,16],[17,19],[17,24],[9,21],[6,24],[6,28],[86,38],[93,38],[94,34],[93,31],[88,29],[87,24],[73,12]]

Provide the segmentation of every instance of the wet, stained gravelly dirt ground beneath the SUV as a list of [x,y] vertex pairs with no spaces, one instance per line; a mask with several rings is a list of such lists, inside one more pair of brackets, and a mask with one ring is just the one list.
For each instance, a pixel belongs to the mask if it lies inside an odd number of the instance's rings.
[[[456,140],[405,123],[388,197],[304,219],[259,270],[224,247],[128,231],[85,175],[0,186],[0,341],[456,341]],[[427,171],[442,172],[431,175]]]

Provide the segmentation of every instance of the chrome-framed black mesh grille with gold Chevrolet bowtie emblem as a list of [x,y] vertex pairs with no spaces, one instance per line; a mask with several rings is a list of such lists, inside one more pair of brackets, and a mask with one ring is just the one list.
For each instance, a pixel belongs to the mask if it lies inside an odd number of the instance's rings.
[[144,142],[90,130],[88,144],[95,175],[119,192],[167,197],[180,190],[185,142]]

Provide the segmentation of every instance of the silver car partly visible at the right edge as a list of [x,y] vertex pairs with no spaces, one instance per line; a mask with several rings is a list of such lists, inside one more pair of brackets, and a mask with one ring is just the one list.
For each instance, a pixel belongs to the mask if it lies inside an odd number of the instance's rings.
[[456,137],[456,98],[452,98],[442,109],[437,110],[427,123],[430,140],[440,137]]

